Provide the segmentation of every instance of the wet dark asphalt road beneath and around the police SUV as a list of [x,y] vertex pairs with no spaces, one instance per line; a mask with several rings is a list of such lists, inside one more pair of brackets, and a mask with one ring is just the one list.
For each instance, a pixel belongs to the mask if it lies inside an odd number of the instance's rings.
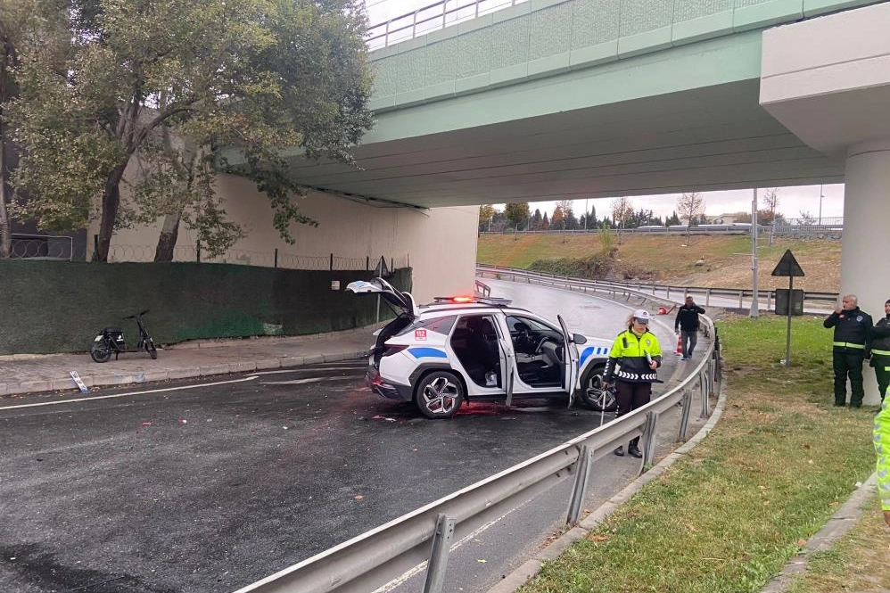
[[[545,307],[562,305],[575,331],[621,327],[625,309],[605,301],[519,288],[548,317]],[[617,325],[597,331],[594,317]],[[533,411],[474,403],[428,421],[367,391],[363,370],[358,361],[298,367],[0,409],[0,591],[232,591],[599,420],[559,399]],[[0,408],[58,399],[3,399]]]

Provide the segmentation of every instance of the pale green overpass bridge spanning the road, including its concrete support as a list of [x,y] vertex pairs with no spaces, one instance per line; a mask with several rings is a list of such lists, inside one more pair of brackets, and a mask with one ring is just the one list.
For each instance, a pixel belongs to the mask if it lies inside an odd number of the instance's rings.
[[420,209],[843,182],[841,289],[880,317],[887,30],[869,0],[532,0],[374,51],[361,169],[291,174]]

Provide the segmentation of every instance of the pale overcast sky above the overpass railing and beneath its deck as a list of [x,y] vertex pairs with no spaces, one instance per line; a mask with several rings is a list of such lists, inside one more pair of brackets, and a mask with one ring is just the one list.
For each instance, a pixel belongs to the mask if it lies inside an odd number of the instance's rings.
[[[519,4],[524,1],[515,0],[515,3]],[[433,3],[434,0],[365,0],[368,22],[371,25],[402,16],[417,8]],[[480,7],[482,9],[494,9],[499,6],[506,7],[510,3],[511,0],[482,0]],[[449,0],[449,9],[457,4],[470,4],[470,0]],[[441,7],[431,9],[430,12],[424,12],[424,15],[432,16],[434,12],[441,13]],[[820,191],[824,196],[821,201]],[[729,214],[730,212],[750,212],[752,194],[751,190],[705,192],[705,214],[716,217],[720,214]],[[759,195],[762,196],[762,191]],[[630,198],[630,203],[633,205],[634,210],[645,208],[652,210],[656,217],[666,218],[671,216],[672,212],[676,210],[679,197],[680,194],[635,196]],[[613,200],[614,198],[598,198],[597,200],[590,200],[589,205],[596,208],[597,217],[602,218],[611,210],[611,202]],[[818,218],[820,202],[822,217],[844,216],[844,185],[801,185],[779,188],[779,206],[777,210],[785,218],[799,218],[802,211]],[[759,204],[762,208],[762,202],[759,202]],[[529,206],[532,212],[537,208],[541,210],[541,213],[547,211],[552,214],[556,208],[556,202],[530,202]],[[503,208],[503,205],[497,207],[500,210]],[[573,210],[576,215],[580,216],[585,210],[584,201],[576,201]]]

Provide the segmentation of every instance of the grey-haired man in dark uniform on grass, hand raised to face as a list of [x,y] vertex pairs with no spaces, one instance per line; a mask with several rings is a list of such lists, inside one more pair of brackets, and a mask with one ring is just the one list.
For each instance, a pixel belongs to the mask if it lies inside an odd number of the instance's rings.
[[835,328],[832,363],[835,371],[835,406],[846,403],[846,379],[850,377],[850,407],[861,408],[865,390],[862,389],[862,360],[871,339],[871,316],[859,308],[855,294],[845,294],[841,306],[822,323]]

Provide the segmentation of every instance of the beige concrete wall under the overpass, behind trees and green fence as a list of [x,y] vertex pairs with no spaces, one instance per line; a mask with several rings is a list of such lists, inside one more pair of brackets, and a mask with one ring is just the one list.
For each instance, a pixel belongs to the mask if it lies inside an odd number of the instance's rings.
[[[272,227],[268,199],[242,177],[220,175],[218,192],[225,199],[228,218],[243,225],[247,236],[236,243],[227,263],[271,266],[275,249],[279,262],[288,267],[319,268],[308,261],[301,266],[292,256],[309,256],[325,261],[337,257],[360,260],[385,257],[395,268],[413,268],[413,287],[418,302],[433,296],[472,292],[476,261],[478,206],[418,210],[379,208],[331,194],[309,194],[300,209],[318,221],[318,226],[294,225],[296,243],[284,243]],[[119,230],[111,241],[113,261],[150,261],[160,231],[157,226]],[[90,228],[90,236],[98,232]],[[194,233],[180,227],[177,259],[194,260]],[[90,240],[92,248],[92,240]],[[219,261],[219,260],[214,260]],[[324,265],[322,266],[324,268]]]

